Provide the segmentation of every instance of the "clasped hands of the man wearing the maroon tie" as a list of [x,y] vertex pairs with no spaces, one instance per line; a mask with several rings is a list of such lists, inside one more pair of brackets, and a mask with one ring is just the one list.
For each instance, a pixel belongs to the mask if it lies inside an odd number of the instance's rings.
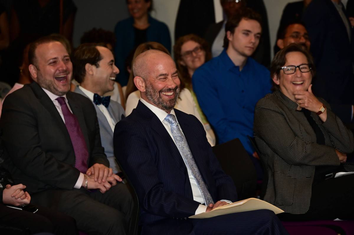
[[[121,182],[122,179],[113,174],[113,169],[108,168],[103,164],[93,164],[87,171],[87,188],[99,189],[101,193],[105,193],[112,186],[117,184],[117,181]],[[85,182],[82,182],[82,186],[85,187]]]

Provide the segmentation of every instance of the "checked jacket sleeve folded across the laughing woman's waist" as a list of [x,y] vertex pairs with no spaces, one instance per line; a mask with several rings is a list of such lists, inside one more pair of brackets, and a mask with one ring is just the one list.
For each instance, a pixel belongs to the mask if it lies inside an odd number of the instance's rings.
[[[333,138],[339,138],[335,144],[348,141],[348,137],[344,140],[340,138],[345,127],[336,129],[341,125],[336,123],[336,119],[333,118],[334,114],[330,110],[327,112],[329,115],[325,125],[331,129],[331,134],[335,136]],[[255,134],[288,164],[339,165],[335,148],[304,141],[293,133],[288,121],[289,118],[272,100],[263,98],[258,101],[255,108]],[[341,146],[335,145],[335,147]]]

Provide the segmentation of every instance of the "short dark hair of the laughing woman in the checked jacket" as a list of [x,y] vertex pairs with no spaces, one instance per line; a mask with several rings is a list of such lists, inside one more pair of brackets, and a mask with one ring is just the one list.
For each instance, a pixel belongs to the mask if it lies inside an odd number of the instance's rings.
[[304,54],[307,58],[308,64],[311,67],[312,76],[314,77],[316,74],[316,68],[315,68],[312,55],[307,51],[307,49],[304,49],[301,45],[298,45],[296,43],[291,43],[290,45],[284,47],[278,53],[276,53],[272,63],[270,64],[270,79],[272,80],[273,83],[273,87],[272,87],[273,91],[279,90],[279,85],[274,83],[273,77],[274,76],[276,76],[277,78],[280,77],[281,67],[285,65],[286,55],[287,53],[290,52],[301,52],[302,54]]

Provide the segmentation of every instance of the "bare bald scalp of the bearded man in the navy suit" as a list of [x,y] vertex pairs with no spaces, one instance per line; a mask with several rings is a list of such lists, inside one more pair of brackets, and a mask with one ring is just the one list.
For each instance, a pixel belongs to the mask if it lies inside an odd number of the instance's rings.
[[133,75],[134,77],[142,77],[144,80],[152,72],[149,65],[156,63],[159,60],[170,59],[170,55],[165,52],[150,49],[139,54],[133,62]]

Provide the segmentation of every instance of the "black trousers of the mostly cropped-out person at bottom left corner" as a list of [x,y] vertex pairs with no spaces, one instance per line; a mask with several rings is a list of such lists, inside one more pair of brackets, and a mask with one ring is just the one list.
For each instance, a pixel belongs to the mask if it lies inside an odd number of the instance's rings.
[[0,234],[78,234],[75,219],[45,207],[32,213],[0,204],[0,227]]

